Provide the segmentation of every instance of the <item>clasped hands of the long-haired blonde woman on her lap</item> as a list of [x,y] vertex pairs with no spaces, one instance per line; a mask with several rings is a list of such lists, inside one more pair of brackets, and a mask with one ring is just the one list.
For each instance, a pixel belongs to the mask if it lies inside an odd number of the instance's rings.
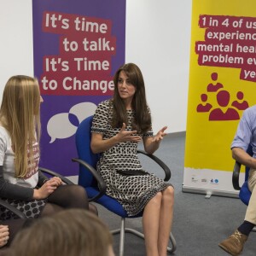
[[61,186],[62,181],[60,177],[52,177],[43,184],[40,189],[34,189],[33,199],[45,199],[52,194],[55,189]]

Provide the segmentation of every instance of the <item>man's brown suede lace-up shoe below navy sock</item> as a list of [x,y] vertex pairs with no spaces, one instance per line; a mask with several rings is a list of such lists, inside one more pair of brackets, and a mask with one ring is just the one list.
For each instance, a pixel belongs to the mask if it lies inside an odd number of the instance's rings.
[[219,247],[224,249],[227,253],[230,253],[233,256],[238,256],[243,248],[244,243],[247,241],[246,235],[241,234],[236,230],[229,238],[218,244]]

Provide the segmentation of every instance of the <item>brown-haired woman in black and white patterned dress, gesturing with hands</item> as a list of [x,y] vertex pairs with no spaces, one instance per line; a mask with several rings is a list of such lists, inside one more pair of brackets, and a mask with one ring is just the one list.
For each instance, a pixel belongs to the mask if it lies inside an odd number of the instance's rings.
[[97,171],[107,183],[107,194],[130,216],[143,211],[147,256],[164,256],[172,227],[174,189],[154,174],[144,172],[137,143],[153,154],[165,137],[166,126],[153,136],[143,74],[133,63],[119,67],[113,78],[113,98],[96,108],[91,127],[92,151],[102,153]]

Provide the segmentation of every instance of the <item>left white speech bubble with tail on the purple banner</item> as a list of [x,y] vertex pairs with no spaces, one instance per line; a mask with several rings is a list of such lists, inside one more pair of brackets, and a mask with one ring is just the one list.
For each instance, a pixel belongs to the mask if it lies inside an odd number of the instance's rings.
[[51,137],[49,143],[55,142],[56,138],[63,139],[73,136],[77,126],[70,123],[68,115],[69,113],[57,113],[49,119],[47,124],[47,131]]

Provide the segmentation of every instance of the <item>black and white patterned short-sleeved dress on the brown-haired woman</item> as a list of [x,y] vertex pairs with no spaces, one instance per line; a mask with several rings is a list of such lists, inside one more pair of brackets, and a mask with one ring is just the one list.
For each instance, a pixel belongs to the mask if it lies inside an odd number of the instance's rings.
[[[111,100],[101,102],[96,108],[91,132],[102,133],[103,139],[108,139],[119,133],[119,128],[111,126],[113,103]],[[125,130],[131,131],[133,111],[127,110],[128,125]],[[139,134],[141,137],[153,136],[153,131]],[[119,143],[102,153],[97,163],[97,171],[107,183],[107,195],[112,196],[125,208],[129,216],[135,216],[143,211],[149,200],[159,191],[172,186],[154,174],[137,174],[143,168],[137,157],[137,143]],[[126,172],[126,173],[125,173]],[[129,172],[129,174],[127,174]],[[134,172],[135,175],[131,175]]]

